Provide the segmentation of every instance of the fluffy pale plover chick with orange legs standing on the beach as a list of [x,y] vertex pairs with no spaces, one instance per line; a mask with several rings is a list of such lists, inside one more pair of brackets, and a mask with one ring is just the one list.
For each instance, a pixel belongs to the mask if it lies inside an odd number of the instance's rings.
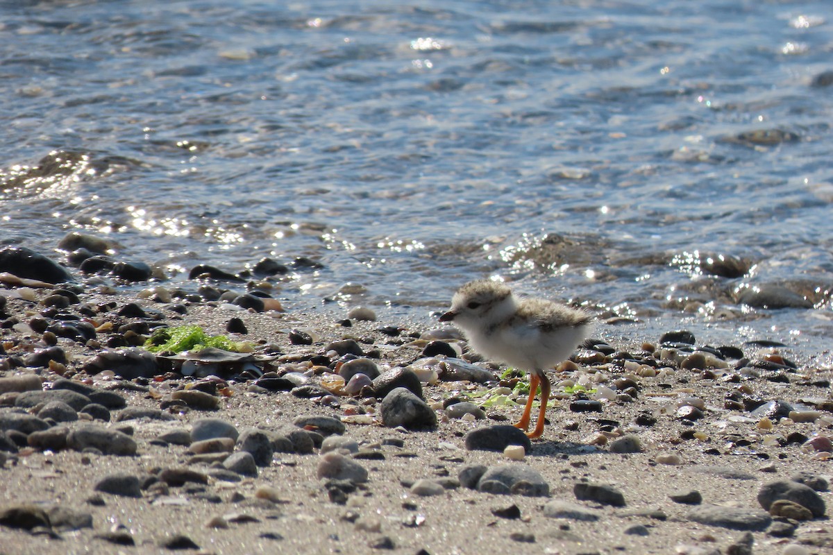
[[526,434],[532,439],[541,437],[550,399],[550,380],[544,370],[567,359],[587,339],[590,315],[551,300],[518,298],[496,281],[476,280],[457,290],[451,310],[440,321],[454,322],[478,353],[530,373],[529,399],[516,428],[529,429],[532,401],[541,385],[538,421]]

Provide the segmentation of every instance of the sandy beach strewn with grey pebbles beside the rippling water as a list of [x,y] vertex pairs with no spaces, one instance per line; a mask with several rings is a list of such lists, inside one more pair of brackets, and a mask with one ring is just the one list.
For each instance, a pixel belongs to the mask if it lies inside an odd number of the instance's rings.
[[[531,443],[525,377],[453,329],[287,314],[207,266],[135,295],[22,249],[0,271],[4,552],[833,549],[831,373],[779,345],[588,340]],[[142,348],[183,324],[251,352]]]

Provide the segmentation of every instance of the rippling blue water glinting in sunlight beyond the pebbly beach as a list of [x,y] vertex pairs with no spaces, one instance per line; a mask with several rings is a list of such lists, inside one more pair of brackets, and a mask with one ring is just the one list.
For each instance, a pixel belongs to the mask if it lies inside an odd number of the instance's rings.
[[[7,244],[59,256],[70,230],[107,235],[174,283],[310,256],[324,268],[283,280],[290,310],[424,322],[463,281],[500,276],[618,321],[614,338],[686,327],[830,363],[826,2],[0,15]],[[739,302],[771,285],[814,307]]]

